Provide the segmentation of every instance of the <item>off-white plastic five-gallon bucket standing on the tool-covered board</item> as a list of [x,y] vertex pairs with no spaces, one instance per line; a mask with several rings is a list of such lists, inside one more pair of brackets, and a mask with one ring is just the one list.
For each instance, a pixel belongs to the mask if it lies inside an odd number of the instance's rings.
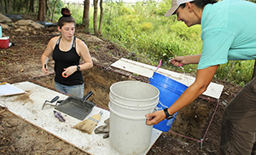
[[122,81],[110,87],[110,146],[121,154],[139,154],[149,145],[153,126],[146,124],[147,113],[159,103],[160,92],[153,85]]

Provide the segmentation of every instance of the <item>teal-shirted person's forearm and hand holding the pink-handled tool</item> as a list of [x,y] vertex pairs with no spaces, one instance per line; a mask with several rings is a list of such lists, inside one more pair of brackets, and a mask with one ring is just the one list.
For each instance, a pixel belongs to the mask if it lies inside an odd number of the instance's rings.
[[198,64],[201,55],[187,55],[187,56],[177,56],[171,61],[173,66],[187,65],[187,64]]

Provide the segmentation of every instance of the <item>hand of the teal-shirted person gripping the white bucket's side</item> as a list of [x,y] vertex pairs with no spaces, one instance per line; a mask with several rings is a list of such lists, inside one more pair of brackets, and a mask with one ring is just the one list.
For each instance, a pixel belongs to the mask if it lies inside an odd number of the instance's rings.
[[145,117],[148,118],[147,119],[148,125],[154,125],[164,120],[166,118],[166,113],[164,111],[156,111],[156,112],[145,115]]

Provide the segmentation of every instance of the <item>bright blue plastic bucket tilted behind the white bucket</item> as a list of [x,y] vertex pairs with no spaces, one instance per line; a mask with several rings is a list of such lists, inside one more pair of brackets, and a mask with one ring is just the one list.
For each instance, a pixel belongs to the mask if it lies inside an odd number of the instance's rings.
[[[154,72],[152,78],[149,78],[149,84],[153,85],[160,91],[159,103],[155,107],[157,111],[164,110],[166,107],[172,106],[172,104],[177,100],[177,98],[183,94],[183,91],[188,87],[183,83],[178,83],[172,78],[167,78],[166,76]],[[174,118],[167,120],[164,119],[160,123],[154,125],[154,129],[159,129],[164,132],[168,132],[171,129],[172,123],[177,116],[177,112],[173,115]]]

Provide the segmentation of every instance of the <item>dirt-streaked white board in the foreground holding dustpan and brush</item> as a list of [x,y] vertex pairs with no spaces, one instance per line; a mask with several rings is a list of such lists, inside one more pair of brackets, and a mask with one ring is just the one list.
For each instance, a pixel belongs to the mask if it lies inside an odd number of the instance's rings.
[[[63,123],[55,118],[53,112],[54,106],[45,105],[42,110],[45,100],[51,100],[56,95],[60,96],[59,100],[64,100],[68,97],[67,95],[62,95],[59,92],[30,82],[15,83],[14,86],[24,89],[26,94],[2,96],[0,97],[0,106],[6,106],[10,112],[15,113],[15,115],[26,120],[28,123],[32,123],[38,128],[44,129],[50,134],[60,138],[62,141],[66,141],[84,152],[96,155],[119,155],[119,152],[116,152],[110,146],[109,138],[103,139],[102,134],[96,135],[93,132],[91,135],[88,135],[78,129],[73,129],[73,125],[80,122],[79,119],[70,117],[61,112],[62,116],[66,119],[66,122]],[[86,118],[101,111],[103,114],[98,125],[104,125],[104,120],[109,118],[110,113],[100,107],[95,106]],[[161,133],[160,130],[153,129],[150,146],[142,155],[147,154],[150,147],[154,145],[154,142],[159,138]]]

